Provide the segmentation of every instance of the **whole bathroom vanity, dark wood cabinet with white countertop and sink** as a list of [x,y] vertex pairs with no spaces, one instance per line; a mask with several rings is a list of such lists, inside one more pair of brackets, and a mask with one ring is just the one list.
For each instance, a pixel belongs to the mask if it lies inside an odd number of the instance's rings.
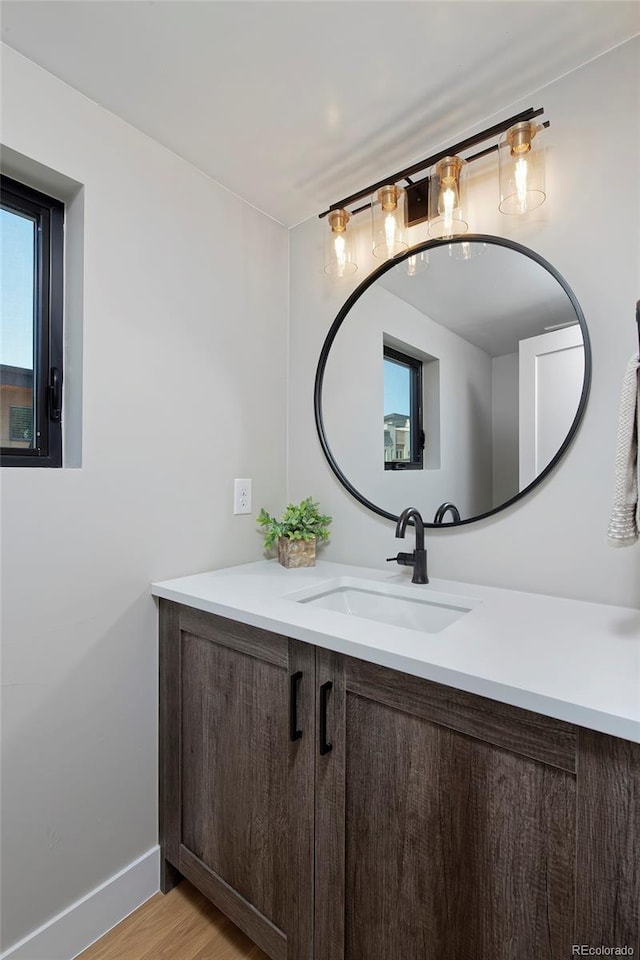
[[163,891],[273,960],[640,954],[640,611],[324,562],[153,592]]

